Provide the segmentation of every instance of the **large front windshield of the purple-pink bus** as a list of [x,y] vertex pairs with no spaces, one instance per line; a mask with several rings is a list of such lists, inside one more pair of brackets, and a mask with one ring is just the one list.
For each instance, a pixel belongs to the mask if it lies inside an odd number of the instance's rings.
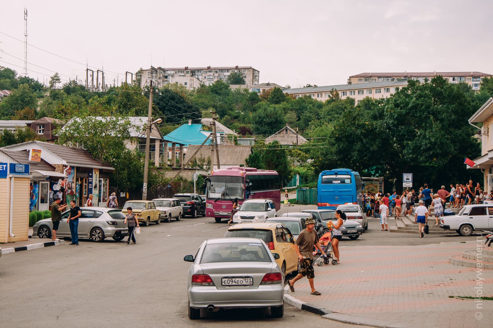
[[245,198],[245,178],[240,176],[212,175],[207,188],[207,199],[239,201]]

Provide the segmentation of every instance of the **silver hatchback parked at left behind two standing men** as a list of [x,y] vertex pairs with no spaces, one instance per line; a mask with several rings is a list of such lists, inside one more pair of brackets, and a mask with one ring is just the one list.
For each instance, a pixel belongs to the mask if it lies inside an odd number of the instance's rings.
[[[102,242],[105,238],[121,241],[128,236],[128,228],[123,221],[125,215],[121,209],[106,207],[80,207],[78,236],[89,238],[93,242]],[[62,220],[57,230],[57,237],[70,238],[70,226],[67,223],[70,210],[62,213]],[[53,222],[51,218],[39,220],[33,227],[33,236],[51,238]]]

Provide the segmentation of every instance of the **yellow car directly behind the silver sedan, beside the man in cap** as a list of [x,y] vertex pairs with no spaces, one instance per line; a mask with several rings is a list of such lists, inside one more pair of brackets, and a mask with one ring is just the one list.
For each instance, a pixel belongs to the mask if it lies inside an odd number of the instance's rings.
[[298,254],[294,238],[282,223],[239,223],[231,226],[224,237],[259,238],[269,246],[271,253],[279,254],[276,263],[281,268],[282,280],[286,274],[298,270]]

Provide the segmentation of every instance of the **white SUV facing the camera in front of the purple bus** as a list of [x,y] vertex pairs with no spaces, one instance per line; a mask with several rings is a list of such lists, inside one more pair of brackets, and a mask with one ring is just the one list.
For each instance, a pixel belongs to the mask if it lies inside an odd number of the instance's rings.
[[269,217],[275,217],[276,206],[271,199],[247,199],[233,215],[233,223],[264,222]]

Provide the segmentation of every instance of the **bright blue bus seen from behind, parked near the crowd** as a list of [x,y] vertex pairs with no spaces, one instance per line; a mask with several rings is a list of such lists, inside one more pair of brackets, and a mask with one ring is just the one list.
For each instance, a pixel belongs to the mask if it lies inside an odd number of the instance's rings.
[[349,168],[325,170],[318,175],[317,206],[319,209],[335,209],[343,204],[363,201],[363,183],[358,172]]

